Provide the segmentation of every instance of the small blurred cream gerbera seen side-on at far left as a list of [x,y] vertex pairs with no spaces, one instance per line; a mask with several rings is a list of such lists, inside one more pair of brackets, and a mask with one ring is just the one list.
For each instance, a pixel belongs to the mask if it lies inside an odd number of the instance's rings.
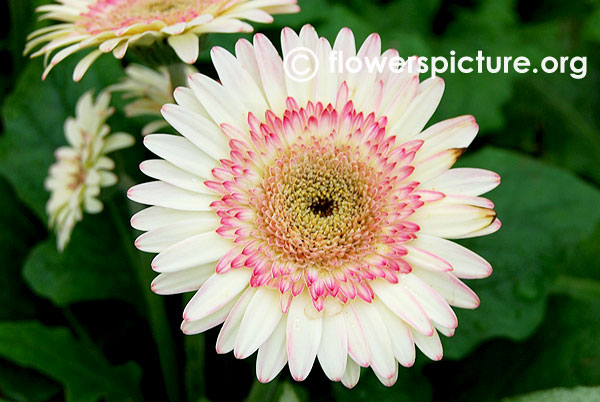
[[131,146],[133,137],[125,133],[110,134],[105,124],[114,109],[110,95],[103,92],[96,101],[86,92],[77,102],[76,117],[65,121],[68,146],[56,150],[56,162],[50,166],[46,189],[51,192],[46,204],[49,226],[54,228],[59,250],[63,250],[75,224],[83,219],[83,210],[95,214],[103,205],[100,188],[117,183],[111,172],[114,162],[106,154]]

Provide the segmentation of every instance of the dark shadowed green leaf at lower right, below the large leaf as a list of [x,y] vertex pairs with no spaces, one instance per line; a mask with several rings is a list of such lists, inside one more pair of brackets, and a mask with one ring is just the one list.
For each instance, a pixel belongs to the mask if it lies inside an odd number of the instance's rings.
[[525,342],[494,340],[461,362],[432,365],[434,389],[457,402],[492,402],[539,389],[600,383],[600,300],[553,296],[548,312]]

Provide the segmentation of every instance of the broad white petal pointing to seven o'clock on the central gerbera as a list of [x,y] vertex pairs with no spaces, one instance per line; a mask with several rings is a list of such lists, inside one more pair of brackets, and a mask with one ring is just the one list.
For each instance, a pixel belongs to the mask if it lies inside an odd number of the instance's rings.
[[245,359],[254,353],[273,333],[281,321],[278,290],[259,288],[242,319],[242,324],[235,341],[234,355]]

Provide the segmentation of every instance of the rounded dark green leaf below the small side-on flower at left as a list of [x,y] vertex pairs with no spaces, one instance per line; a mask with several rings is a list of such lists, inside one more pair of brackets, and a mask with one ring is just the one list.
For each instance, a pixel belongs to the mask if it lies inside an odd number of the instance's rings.
[[38,244],[23,275],[38,295],[60,307],[85,300],[119,299],[141,311],[139,284],[130,259],[115,241],[118,236],[107,212],[86,216],[62,253],[57,251],[54,237]]

